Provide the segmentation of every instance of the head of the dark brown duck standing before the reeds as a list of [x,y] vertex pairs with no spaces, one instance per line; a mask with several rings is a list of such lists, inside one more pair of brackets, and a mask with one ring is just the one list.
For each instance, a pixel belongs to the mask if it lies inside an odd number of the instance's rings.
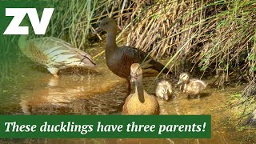
[[110,32],[116,30],[116,23],[113,18],[105,18],[99,24],[98,28],[96,29],[96,33],[100,33],[102,31]]

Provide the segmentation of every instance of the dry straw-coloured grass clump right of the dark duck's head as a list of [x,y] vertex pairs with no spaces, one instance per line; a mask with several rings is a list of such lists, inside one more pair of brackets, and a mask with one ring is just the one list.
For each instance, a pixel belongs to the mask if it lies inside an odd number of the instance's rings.
[[255,6],[235,0],[156,1],[137,10],[127,44],[152,56],[169,56],[173,70],[215,71],[221,82],[232,75],[251,79],[256,71]]

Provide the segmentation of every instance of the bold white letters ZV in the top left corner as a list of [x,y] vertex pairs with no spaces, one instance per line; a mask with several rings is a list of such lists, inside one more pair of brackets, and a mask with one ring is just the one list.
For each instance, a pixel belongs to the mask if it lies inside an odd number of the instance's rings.
[[28,26],[19,26],[23,18],[28,14],[35,34],[45,34],[54,8],[45,8],[41,21],[35,8],[6,8],[6,16],[14,16],[4,34],[29,34]]

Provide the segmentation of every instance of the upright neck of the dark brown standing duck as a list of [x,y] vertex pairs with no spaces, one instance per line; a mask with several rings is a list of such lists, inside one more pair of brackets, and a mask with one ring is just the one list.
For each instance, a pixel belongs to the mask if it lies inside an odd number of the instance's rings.
[[106,55],[114,53],[114,50],[117,49],[117,44],[115,38],[117,35],[117,30],[113,29],[107,32],[106,36]]

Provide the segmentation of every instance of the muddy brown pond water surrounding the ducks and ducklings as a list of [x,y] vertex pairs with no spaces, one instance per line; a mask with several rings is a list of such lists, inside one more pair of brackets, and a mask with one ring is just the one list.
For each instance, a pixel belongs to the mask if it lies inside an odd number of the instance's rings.
[[[15,49],[17,50],[17,49]],[[98,54],[102,49],[91,49]],[[126,98],[126,81],[111,73],[104,58],[95,70],[69,69],[54,78],[42,66],[24,57],[18,50],[0,55],[0,114],[121,114]],[[154,94],[154,77],[144,85]],[[148,89],[150,87],[150,89]],[[226,102],[244,86],[225,90],[209,87],[206,97],[186,98],[177,91],[170,102],[158,99],[161,114],[210,114],[211,139],[4,139],[7,143],[249,143],[256,142],[255,130],[235,130],[228,122],[234,114]],[[1,142],[1,143],[2,143]]]

